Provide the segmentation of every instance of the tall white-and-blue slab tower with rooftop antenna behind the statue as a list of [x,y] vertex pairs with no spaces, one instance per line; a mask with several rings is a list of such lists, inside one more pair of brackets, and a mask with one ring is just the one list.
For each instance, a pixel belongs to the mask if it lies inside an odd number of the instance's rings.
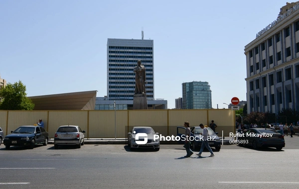
[[146,94],[154,99],[153,40],[108,39],[107,43],[107,96],[109,100],[133,100],[135,73],[141,60],[146,68]]

